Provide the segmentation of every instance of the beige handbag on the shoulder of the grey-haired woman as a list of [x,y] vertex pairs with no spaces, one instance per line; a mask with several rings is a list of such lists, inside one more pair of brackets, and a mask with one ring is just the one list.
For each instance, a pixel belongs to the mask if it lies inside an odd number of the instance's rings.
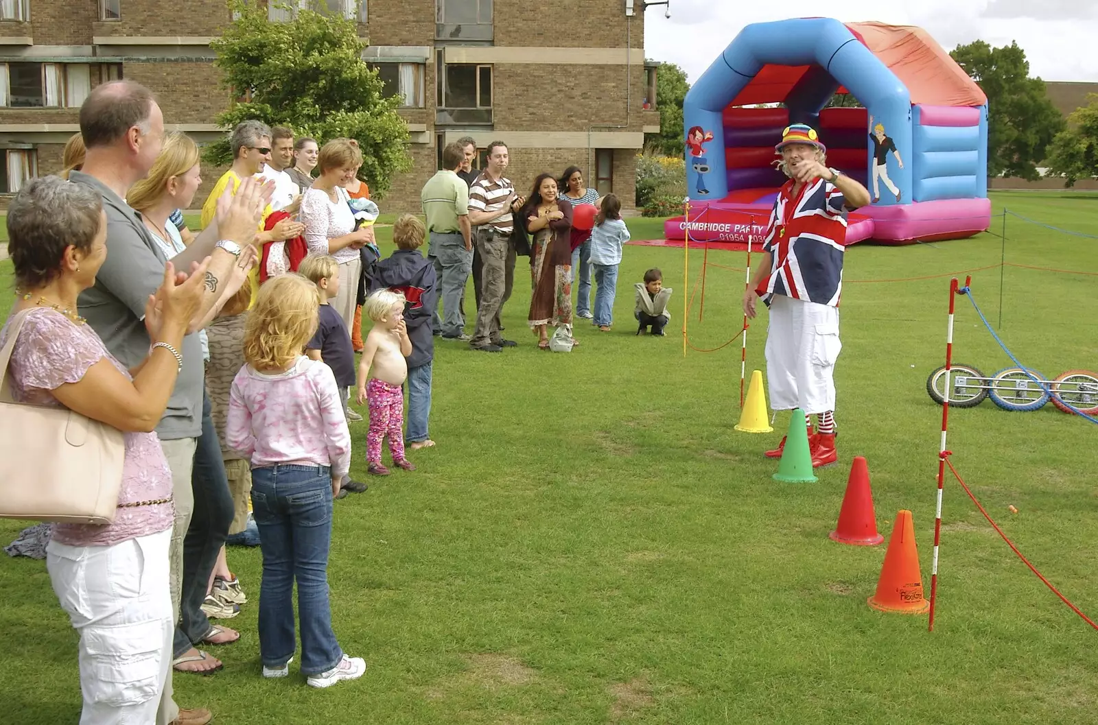
[[0,350],[0,519],[111,523],[122,488],[122,431],[67,408],[12,399],[8,363],[27,311],[12,316]]

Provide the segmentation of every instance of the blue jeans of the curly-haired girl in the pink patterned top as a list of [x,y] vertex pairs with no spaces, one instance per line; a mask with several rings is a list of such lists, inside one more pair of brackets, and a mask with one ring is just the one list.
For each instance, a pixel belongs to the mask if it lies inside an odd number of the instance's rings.
[[267,667],[282,667],[293,656],[296,580],[301,671],[317,675],[329,670],[343,659],[332,632],[328,603],[332,469],[295,465],[253,468],[251,509],[264,553],[259,658]]

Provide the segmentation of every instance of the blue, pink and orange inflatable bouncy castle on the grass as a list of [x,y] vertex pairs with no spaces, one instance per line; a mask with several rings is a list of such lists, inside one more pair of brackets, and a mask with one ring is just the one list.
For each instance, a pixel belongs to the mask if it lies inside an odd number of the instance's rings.
[[[850,93],[864,107],[825,107]],[[778,107],[750,107],[781,103]],[[686,216],[668,239],[761,239],[786,178],[774,145],[806,123],[873,203],[847,243],[957,239],[988,228],[987,98],[925,31],[831,19],[748,25],[683,103]]]

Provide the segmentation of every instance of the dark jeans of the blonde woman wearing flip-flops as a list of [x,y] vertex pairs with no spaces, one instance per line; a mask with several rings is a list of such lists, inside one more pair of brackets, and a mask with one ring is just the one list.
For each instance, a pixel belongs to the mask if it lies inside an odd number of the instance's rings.
[[210,574],[217,563],[217,553],[228,536],[228,528],[233,525],[236,513],[210,410],[210,398],[203,396],[202,435],[194,449],[194,466],[191,468],[194,512],[183,539],[182,596],[179,626],[172,645],[176,657],[190,649],[192,644],[202,642],[210,633],[210,620],[202,611],[202,602],[210,586]]

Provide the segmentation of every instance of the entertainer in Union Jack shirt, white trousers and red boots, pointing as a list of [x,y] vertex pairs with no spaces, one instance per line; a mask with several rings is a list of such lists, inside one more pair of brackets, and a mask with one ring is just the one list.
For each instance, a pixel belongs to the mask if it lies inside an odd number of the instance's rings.
[[[838,462],[834,448],[834,362],[839,341],[839,294],[847,213],[870,203],[870,192],[827,168],[827,148],[816,131],[793,124],[774,147],[789,177],[778,191],[763,243],[764,261],[743,295],[755,316],[759,297],[770,307],[766,380],[774,410],[805,412],[813,466]],[[817,416],[813,430],[809,416]],[[785,439],[766,456],[782,456]]]

